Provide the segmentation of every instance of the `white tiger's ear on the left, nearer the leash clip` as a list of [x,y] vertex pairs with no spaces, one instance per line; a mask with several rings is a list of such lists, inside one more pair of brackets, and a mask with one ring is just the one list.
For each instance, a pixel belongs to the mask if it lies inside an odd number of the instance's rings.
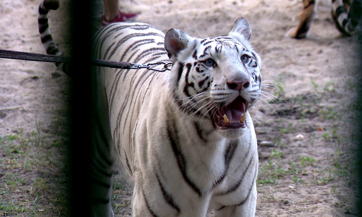
[[169,58],[176,58],[178,53],[184,50],[190,41],[190,36],[182,30],[170,29],[165,35],[165,48]]

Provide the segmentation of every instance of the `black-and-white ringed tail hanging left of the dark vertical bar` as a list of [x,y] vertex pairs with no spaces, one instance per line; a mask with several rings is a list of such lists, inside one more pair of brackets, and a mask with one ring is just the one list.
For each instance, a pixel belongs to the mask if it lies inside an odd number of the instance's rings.
[[[51,36],[48,22],[49,10],[56,10],[59,8],[59,0],[43,0],[39,4],[38,13],[38,27],[42,44],[49,55],[63,56],[62,52],[56,47],[54,40]],[[60,70],[70,75],[70,64],[68,63],[54,63]]]

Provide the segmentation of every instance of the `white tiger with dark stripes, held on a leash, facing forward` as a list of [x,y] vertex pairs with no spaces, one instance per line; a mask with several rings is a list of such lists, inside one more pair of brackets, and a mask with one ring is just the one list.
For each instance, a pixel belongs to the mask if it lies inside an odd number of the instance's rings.
[[134,180],[132,216],[255,215],[258,152],[248,110],[260,96],[261,59],[250,37],[244,18],[228,35],[203,39],[138,22],[97,31],[97,59],[173,66],[96,67],[94,216],[114,216],[117,159]]

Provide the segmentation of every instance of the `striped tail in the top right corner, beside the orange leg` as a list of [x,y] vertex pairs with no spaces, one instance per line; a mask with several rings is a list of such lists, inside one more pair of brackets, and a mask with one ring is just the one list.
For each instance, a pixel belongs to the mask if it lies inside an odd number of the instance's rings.
[[351,36],[358,33],[357,25],[361,19],[362,1],[332,0],[332,17],[337,29],[344,35]]

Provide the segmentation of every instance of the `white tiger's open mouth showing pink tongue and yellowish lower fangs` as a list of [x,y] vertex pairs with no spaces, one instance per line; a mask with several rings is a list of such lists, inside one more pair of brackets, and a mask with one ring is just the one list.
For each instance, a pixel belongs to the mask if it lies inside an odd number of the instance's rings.
[[244,128],[247,102],[242,97],[237,97],[230,104],[218,108],[214,112],[215,125],[220,129]]

